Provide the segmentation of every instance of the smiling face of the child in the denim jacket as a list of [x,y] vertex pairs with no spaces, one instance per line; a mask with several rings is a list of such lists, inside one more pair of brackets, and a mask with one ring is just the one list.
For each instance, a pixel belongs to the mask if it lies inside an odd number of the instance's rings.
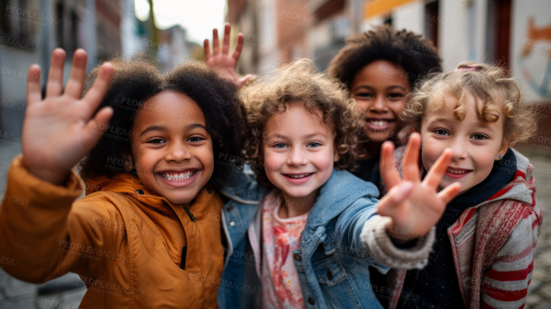
[[268,180],[284,196],[316,196],[339,158],[333,130],[321,121],[321,112],[311,113],[304,102],[293,102],[287,104],[285,112],[274,113],[263,129],[267,137],[262,139],[262,154]]

